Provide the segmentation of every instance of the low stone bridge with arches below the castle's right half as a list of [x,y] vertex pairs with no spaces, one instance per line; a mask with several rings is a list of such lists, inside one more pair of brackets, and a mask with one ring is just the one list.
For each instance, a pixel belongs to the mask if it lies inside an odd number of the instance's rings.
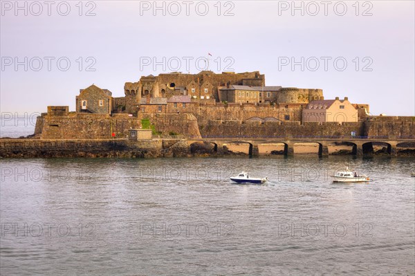
[[190,146],[195,142],[210,142],[214,145],[214,151],[218,155],[223,155],[223,145],[229,143],[246,143],[249,145],[249,155],[258,156],[259,155],[259,145],[271,144],[271,143],[282,143],[284,144],[284,155],[290,156],[294,154],[294,145],[297,143],[317,143],[319,145],[318,154],[319,156],[328,156],[329,155],[329,145],[334,142],[342,142],[345,145],[353,146],[352,153],[356,156],[362,156],[364,149],[370,149],[373,151],[373,144],[382,143],[387,146],[387,153],[393,156],[397,154],[397,147],[401,143],[411,142],[415,144],[414,138],[405,138],[405,137],[391,137],[391,136],[378,136],[378,137],[361,137],[361,136],[351,136],[347,137],[268,137],[268,138],[215,138],[215,137],[205,137],[205,138],[188,138],[187,144]]

